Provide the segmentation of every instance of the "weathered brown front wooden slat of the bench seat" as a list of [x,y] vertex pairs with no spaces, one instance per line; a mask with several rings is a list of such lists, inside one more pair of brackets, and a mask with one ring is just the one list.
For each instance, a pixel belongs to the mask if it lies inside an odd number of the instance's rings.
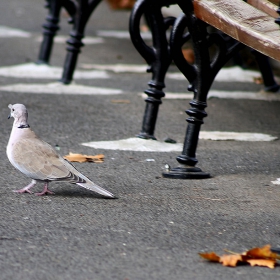
[[280,61],[280,27],[243,1],[194,0],[195,15],[257,51]]

